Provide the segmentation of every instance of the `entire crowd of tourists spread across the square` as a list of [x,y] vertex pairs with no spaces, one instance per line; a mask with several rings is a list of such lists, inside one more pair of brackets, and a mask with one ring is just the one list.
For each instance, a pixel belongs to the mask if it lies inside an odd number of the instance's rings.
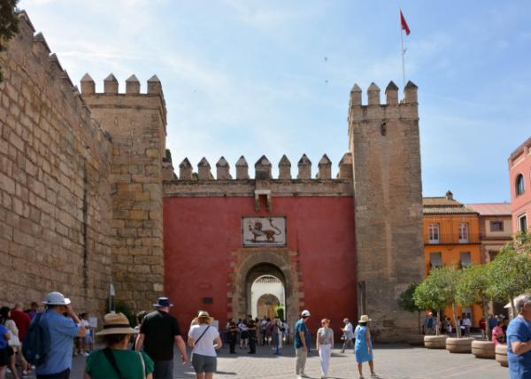
[[[190,361],[196,379],[211,379],[216,372],[216,351],[223,342],[212,316],[205,311],[199,311],[191,321],[185,343],[179,322],[170,313],[173,305],[168,298],[158,298],[153,312],[138,313],[135,328],[123,313],[105,314],[103,328],[98,332],[91,325],[89,315],[76,314],[63,294],[50,292],[42,303],[44,312],[37,303],[32,303],[27,310],[22,304],[0,308],[0,379],[4,379],[8,369],[15,379],[19,375],[27,376],[34,369],[38,379],[68,379],[75,354],[87,356],[85,379],[169,379],[173,378],[175,345],[182,365],[189,362],[186,344],[191,348]],[[511,378],[528,379],[531,377],[531,295],[520,296],[515,305],[518,315],[511,322],[490,315],[489,320],[481,323],[485,329],[489,325],[493,343],[508,345]],[[306,323],[310,317],[310,311],[304,310],[293,329],[297,378],[307,377],[304,370],[312,338]],[[465,326],[464,333],[469,333],[466,319],[469,315],[465,314],[458,327]],[[367,315],[362,315],[354,328],[345,318],[340,328],[342,352],[353,348],[360,379],[364,377],[364,362],[368,363],[371,377],[378,377],[374,373],[370,321]],[[433,314],[427,314],[425,331],[431,332],[430,328],[437,322]],[[444,328],[444,320],[439,325]],[[237,323],[230,320],[226,329],[231,353],[235,353],[236,344],[240,349],[249,347],[251,354],[256,353],[258,343],[271,346],[274,354],[280,354],[282,344],[289,341],[288,323],[276,317],[257,320],[248,316]],[[104,348],[94,349],[94,336],[102,338]],[[321,378],[328,375],[334,344],[331,321],[322,319],[321,328],[315,334]]]

